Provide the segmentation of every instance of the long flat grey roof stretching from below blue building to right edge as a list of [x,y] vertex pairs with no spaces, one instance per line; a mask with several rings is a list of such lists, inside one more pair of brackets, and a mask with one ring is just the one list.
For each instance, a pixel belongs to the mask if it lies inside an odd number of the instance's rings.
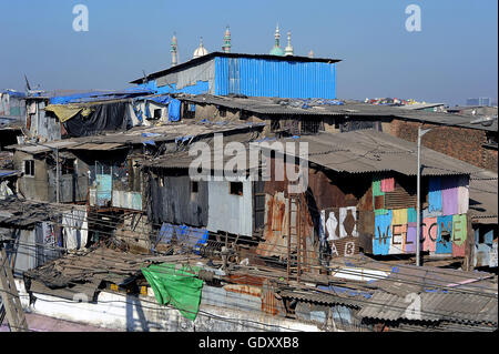
[[342,115],[345,118],[371,117],[371,118],[397,118],[403,120],[420,121],[431,124],[462,127],[486,131],[498,131],[497,120],[481,123],[471,123],[477,120],[476,115],[457,115],[444,112],[427,112],[419,110],[407,110],[400,107],[377,105],[358,101],[338,100],[307,100],[307,99],[279,99],[279,98],[246,98],[246,97],[220,97],[213,94],[181,94],[181,101],[193,103],[216,104],[230,109],[238,109],[259,114],[278,115]]

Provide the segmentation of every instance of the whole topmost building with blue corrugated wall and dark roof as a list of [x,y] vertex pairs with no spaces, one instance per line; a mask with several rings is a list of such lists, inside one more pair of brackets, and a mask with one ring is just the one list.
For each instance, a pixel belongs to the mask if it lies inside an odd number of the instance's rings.
[[336,99],[338,61],[214,52],[131,83],[157,93]]

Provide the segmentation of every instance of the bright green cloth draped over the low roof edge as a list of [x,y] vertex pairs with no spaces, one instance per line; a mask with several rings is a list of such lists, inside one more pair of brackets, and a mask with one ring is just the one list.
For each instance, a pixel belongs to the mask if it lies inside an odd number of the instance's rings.
[[176,270],[175,266],[176,264],[171,263],[152,264],[141,271],[160,304],[171,304],[185,318],[194,321],[200,310],[203,287],[203,281],[197,277],[200,267],[183,265]]

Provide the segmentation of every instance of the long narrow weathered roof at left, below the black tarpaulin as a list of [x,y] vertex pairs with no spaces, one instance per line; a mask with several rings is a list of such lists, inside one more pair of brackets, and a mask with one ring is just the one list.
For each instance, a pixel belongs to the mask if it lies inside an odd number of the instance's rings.
[[19,150],[31,154],[60,150],[111,150],[125,148],[130,144],[155,144],[166,141],[189,141],[200,135],[211,135],[231,131],[244,131],[254,128],[263,128],[265,123],[236,123],[236,122],[214,122],[214,123],[174,123],[159,127],[136,127],[128,131],[110,132],[101,135],[71,138],[39,143],[26,143],[9,145],[6,149]]

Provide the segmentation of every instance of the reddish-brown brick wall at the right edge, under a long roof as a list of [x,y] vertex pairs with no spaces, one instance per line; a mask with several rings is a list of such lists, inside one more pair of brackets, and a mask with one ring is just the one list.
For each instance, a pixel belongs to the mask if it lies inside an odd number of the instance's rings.
[[[420,122],[394,119],[390,133],[404,140],[417,142]],[[437,128],[422,138],[422,145],[468,162],[478,168],[497,172],[497,150],[483,148],[486,131],[459,127],[442,127],[425,123],[425,129]]]

